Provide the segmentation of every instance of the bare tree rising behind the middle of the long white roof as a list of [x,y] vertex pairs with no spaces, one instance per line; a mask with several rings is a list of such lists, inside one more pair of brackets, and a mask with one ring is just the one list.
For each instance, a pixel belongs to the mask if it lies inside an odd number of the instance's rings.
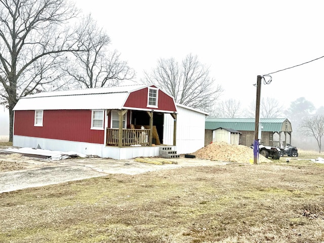
[[117,85],[120,80],[132,79],[135,72],[126,61],[120,60],[115,50],[107,51],[110,44],[109,36],[99,29],[97,23],[87,16],[78,29],[79,46],[85,52],[74,52],[74,61],[65,67],[72,81],[79,88],[109,87]]

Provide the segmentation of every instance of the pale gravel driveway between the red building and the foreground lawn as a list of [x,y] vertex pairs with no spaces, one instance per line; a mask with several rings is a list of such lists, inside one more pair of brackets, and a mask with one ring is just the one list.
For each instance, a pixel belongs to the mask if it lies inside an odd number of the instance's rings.
[[[59,161],[44,161],[20,158],[9,158],[0,154],[0,160],[21,162],[23,170],[0,172],[0,193],[15,191],[28,187],[58,184],[67,181],[82,180],[108,174],[135,175],[149,171],[176,169],[188,166],[220,166],[228,163],[205,159],[175,158],[170,159],[178,164],[154,165],[127,160],[103,158],[74,158]],[[9,159],[8,159],[9,158]]]

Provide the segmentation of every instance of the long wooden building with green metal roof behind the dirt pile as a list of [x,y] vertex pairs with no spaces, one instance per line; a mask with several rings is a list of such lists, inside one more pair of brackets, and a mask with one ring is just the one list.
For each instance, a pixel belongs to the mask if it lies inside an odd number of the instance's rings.
[[[261,118],[261,143],[270,146],[286,146],[289,135],[291,143],[292,125],[287,118]],[[218,128],[227,128],[241,133],[239,144],[250,146],[255,137],[254,118],[215,118],[207,117],[205,120],[205,146],[213,141],[213,131]],[[215,135],[214,135],[215,138]]]

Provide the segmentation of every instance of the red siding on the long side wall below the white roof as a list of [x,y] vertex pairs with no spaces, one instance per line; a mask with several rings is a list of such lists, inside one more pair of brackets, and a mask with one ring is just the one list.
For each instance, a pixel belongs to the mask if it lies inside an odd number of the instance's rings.
[[91,110],[44,110],[43,127],[34,126],[34,116],[34,110],[16,110],[14,135],[104,143],[104,131],[91,130]]

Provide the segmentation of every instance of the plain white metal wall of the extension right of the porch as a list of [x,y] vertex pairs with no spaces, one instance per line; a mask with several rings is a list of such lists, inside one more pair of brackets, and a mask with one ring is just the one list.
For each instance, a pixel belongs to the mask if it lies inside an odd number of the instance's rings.
[[[192,153],[205,146],[204,113],[177,106],[177,153]],[[164,115],[163,143],[173,144],[174,120]]]

